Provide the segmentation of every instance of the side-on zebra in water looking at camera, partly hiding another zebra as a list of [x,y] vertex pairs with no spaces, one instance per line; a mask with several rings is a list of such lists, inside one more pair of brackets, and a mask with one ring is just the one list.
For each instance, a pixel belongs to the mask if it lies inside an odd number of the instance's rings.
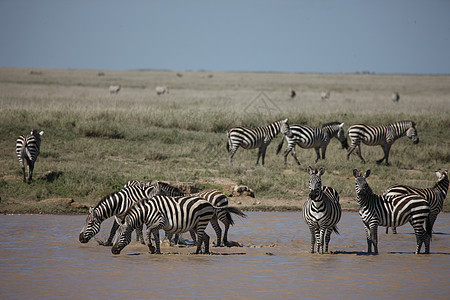
[[423,197],[415,194],[381,196],[374,194],[366,178],[370,170],[364,174],[353,170],[355,176],[356,202],[359,204],[359,215],[364,223],[367,237],[367,252],[372,253],[372,245],[375,254],[378,253],[378,226],[398,227],[409,222],[416,234],[416,254],[420,253],[422,244],[425,243],[425,253],[430,253],[431,227],[423,228],[425,222],[429,222],[430,205]]

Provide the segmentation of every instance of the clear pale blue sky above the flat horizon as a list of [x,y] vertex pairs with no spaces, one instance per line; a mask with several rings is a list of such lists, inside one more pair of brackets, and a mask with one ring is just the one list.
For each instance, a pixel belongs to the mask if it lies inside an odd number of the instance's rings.
[[0,0],[0,67],[450,73],[448,0]]

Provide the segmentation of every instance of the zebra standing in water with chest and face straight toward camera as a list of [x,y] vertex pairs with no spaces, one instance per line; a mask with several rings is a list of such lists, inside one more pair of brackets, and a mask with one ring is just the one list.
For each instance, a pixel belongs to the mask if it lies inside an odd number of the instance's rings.
[[324,168],[313,170],[308,167],[309,198],[303,205],[303,219],[311,231],[311,253],[323,254],[324,238],[325,252],[328,253],[331,232],[339,234],[336,224],[341,219],[341,205],[338,192],[327,186],[322,186],[321,176]]

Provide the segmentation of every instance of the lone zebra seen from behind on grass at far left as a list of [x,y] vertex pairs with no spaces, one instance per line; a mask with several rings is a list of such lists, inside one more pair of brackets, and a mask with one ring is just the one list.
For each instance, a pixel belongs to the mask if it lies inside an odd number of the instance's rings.
[[33,177],[34,164],[40,153],[41,136],[44,131],[38,133],[33,129],[30,135],[21,135],[16,141],[16,154],[19,159],[20,167],[22,168],[23,182],[27,182],[25,176],[25,162],[28,165],[28,183],[31,183]]

